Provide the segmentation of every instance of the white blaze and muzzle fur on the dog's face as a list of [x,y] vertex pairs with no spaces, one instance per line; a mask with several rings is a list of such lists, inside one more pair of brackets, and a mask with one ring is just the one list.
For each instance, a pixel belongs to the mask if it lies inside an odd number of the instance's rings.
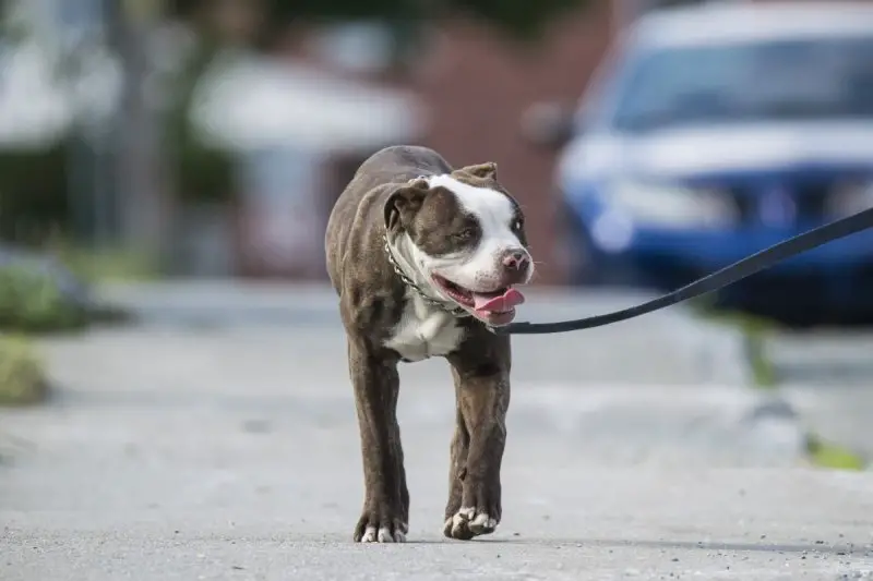
[[[427,256],[418,251],[417,262],[429,273],[436,273],[464,288],[490,292],[500,287],[502,259],[506,251],[527,254],[513,232],[515,208],[510,198],[494,190],[475,187],[451,175],[430,178],[431,187],[444,187],[458,201],[462,211],[474,216],[481,229],[479,243],[470,249],[444,256]],[[527,279],[530,280],[530,268]]]

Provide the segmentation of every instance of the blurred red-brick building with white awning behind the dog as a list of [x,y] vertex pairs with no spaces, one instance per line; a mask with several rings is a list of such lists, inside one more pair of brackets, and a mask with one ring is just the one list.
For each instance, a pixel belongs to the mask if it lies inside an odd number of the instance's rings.
[[575,102],[614,26],[614,8],[595,2],[527,46],[458,19],[429,27],[410,66],[379,22],[296,26],[270,57],[235,57],[204,77],[192,116],[237,153],[239,204],[176,208],[180,270],[323,279],[326,217],[357,166],[418,143],[455,166],[497,161],[525,207],[538,282],[559,282],[553,154],[526,143],[521,119],[541,99]]

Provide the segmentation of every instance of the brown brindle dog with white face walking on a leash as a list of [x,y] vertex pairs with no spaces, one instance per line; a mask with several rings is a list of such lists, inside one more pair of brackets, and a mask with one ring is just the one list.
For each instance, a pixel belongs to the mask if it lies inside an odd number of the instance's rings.
[[500,469],[510,404],[510,339],[493,332],[534,276],[524,214],[493,162],[453,169],[433,149],[383,148],[339,195],[325,233],[327,271],[348,343],[363,459],[360,543],[409,530],[399,362],[441,356],[456,426],[443,534],[468,541],[501,520]]

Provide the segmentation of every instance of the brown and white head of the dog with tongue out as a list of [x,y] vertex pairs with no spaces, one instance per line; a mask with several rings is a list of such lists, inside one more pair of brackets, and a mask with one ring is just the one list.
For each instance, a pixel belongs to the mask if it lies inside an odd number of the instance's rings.
[[385,228],[419,279],[489,325],[515,317],[514,287],[534,276],[524,214],[498,183],[497,166],[412,180],[385,203]]

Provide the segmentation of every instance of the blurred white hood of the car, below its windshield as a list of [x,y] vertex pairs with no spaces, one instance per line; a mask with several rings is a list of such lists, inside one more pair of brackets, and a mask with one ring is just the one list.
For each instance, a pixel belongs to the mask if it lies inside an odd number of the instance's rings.
[[563,152],[562,181],[615,174],[682,177],[822,165],[873,169],[873,122],[745,124],[590,134]]

